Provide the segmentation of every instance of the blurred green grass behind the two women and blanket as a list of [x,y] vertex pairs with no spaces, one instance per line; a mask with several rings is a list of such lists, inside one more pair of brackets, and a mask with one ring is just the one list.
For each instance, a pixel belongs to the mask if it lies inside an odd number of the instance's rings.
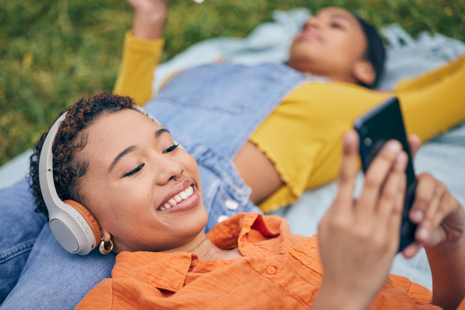
[[[171,0],[163,60],[207,38],[244,37],[275,9],[328,5],[465,41],[465,0]],[[0,1],[0,164],[76,99],[111,91],[131,20],[123,0]]]

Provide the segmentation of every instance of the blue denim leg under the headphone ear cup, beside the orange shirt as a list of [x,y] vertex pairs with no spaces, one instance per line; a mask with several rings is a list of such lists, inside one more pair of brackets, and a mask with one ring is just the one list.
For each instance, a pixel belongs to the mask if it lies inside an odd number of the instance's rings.
[[85,256],[71,254],[45,225],[0,309],[73,309],[96,284],[111,277],[115,257],[95,250]]

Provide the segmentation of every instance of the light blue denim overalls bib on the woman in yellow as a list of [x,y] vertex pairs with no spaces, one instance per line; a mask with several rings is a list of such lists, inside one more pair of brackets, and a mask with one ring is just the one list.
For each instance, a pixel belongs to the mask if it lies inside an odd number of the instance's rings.
[[307,79],[281,63],[207,64],[178,73],[144,108],[172,133],[232,160],[285,95]]

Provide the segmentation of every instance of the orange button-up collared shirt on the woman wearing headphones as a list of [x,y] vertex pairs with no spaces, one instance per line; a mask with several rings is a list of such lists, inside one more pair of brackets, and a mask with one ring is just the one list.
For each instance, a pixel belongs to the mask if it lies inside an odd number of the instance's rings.
[[[309,309],[323,280],[317,235],[292,234],[280,217],[241,213],[217,224],[208,238],[218,248],[239,247],[243,257],[200,261],[186,252],[122,252],[112,279],[76,309]],[[426,288],[390,276],[370,309],[439,309],[430,300]]]

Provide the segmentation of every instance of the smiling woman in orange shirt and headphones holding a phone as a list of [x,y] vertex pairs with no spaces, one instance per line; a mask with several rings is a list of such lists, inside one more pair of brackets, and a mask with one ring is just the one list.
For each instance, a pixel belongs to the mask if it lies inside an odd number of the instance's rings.
[[[345,134],[343,151],[338,194],[318,237],[293,235],[285,220],[252,213],[206,234],[195,159],[132,100],[101,94],[77,102],[44,134],[31,187],[63,247],[85,254],[100,241],[102,252],[118,253],[113,279],[77,309],[438,309],[425,306],[428,290],[388,276],[405,190],[400,143],[387,142],[373,160],[358,200],[355,132]],[[416,243],[403,254],[425,247],[433,304],[463,308],[464,209],[429,174],[418,176],[417,192]]]

